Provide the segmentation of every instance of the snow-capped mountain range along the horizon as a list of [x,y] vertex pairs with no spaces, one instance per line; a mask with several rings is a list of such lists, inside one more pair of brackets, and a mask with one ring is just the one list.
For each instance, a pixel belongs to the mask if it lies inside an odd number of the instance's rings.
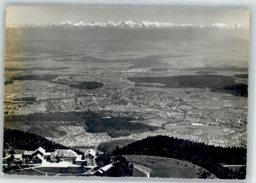
[[[72,24],[70,21],[63,21],[59,24],[45,24],[45,25],[31,25],[31,24],[25,24],[21,27],[39,27],[39,26],[50,26],[50,27],[116,27],[116,28],[146,28],[146,29],[162,29],[162,28],[188,28],[188,27],[194,27],[194,28],[226,28],[226,29],[233,29],[233,28],[246,28],[243,24],[237,24],[237,25],[227,25],[223,23],[215,23],[215,24],[209,24],[209,25],[199,25],[199,24],[174,24],[174,23],[167,23],[167,22],[152,22],[152,21],[142,21],[141,23],[134,23],[133,21],[108,21],[108,22],[96,22],[93,21],[92,23],[84,23],[83,21],[79,21],[78,23]],[[16,28],[13,25],[7,25],[8,28]]]

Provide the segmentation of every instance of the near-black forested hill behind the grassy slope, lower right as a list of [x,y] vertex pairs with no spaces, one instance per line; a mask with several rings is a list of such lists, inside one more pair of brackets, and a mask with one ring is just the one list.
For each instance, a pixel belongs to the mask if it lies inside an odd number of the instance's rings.
[[246,165],[246,148],[215,147],[169,136],[151,136],[113,151],[119,155],[150,155],[176,158],[203,167],[220,179],[245,179],[246,166],[229,170],[220,163]]

